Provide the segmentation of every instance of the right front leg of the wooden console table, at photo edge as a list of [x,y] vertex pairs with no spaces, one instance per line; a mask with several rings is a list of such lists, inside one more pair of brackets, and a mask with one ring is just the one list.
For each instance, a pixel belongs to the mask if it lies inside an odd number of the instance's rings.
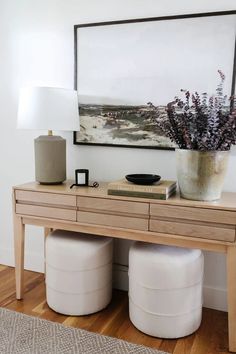
[[236,247],[227,249],[229,351],[236,352]]

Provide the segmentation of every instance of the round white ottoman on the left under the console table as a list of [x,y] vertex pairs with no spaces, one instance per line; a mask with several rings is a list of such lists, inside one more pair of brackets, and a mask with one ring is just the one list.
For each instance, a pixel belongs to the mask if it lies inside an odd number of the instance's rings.
[[112,239],[55,230],[46,238],[48,306],[65,315],[87,315],[112,295]]

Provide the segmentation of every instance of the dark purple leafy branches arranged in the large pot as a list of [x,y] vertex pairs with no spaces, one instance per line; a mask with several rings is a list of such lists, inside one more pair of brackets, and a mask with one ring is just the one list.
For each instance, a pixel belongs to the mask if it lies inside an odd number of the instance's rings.
[[158,127],[179,148],[192,150],[229,150],[236,144],[236,98],[227,96],[223,86],[225,75],[218,70],[220,82],[214,96],[206,92],[190,94],[181,90],[184,98],[175,98],[167,105],[167,117],[158,114],[158,106],[149,107]]

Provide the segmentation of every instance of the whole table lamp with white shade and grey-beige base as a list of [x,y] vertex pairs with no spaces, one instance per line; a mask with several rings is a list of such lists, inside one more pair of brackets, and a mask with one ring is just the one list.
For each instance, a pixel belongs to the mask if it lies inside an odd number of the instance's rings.
[[34,140],[35,179],[59,184],[66,179],[66,140],[52,130],[79,131],[77,91],[56,87],[31,87],[20,92],[17,128],[47,130]]

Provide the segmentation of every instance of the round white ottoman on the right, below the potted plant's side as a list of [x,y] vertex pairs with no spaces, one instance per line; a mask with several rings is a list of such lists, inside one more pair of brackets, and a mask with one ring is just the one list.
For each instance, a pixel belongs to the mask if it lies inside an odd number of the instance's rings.
[[202,318],[200,250],[136,242],[129,253],[130,320],[155,337],[179,338]]

